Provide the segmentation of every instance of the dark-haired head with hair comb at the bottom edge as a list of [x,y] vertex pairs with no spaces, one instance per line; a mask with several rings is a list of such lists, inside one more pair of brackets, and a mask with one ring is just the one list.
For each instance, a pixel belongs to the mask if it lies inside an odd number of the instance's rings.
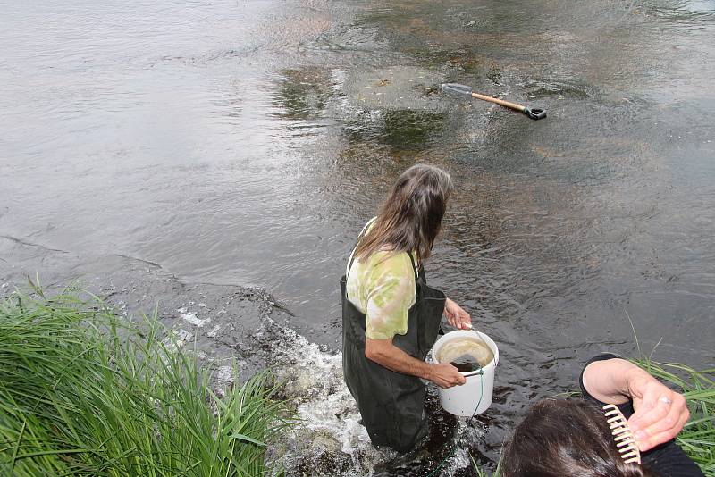
[[504,447],[502,477],[655,477],[624,464],[601,409],[546,399],[529,409]]

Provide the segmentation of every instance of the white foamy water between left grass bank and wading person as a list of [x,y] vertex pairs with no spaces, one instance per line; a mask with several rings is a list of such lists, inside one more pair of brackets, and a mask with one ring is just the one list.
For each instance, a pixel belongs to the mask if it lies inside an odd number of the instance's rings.
[[301,423],[270,449],[272,464],[289,475],[366,475],[395,456],[377,450],[358,423],[357,405],[342,377],[341,353],[330,353],[305,337],[265,319],[254,338],[270,349],[282,394],[296,406]]

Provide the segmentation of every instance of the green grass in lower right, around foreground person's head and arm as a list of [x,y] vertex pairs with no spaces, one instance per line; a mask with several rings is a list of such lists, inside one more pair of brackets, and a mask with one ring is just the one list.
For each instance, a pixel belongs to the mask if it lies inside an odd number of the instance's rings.
[[[695,371],[684,364],[658,363],[647,357],[631,361],[686,397],[690,420],[677,435],[677,445],[700,466],[702,473],[715,477],[715,369]],[[472,458],[472,468],[478,477],[500,477],[499,465],[489,473]]]

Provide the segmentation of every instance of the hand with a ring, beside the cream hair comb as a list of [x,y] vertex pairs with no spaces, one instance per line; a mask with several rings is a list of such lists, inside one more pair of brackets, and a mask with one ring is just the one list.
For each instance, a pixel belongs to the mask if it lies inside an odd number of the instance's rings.
[[628,393],[635,413],[628,419],[641,452],[677,436],[690,417],[686,398],[647,372],[638,370],[628,379]]

